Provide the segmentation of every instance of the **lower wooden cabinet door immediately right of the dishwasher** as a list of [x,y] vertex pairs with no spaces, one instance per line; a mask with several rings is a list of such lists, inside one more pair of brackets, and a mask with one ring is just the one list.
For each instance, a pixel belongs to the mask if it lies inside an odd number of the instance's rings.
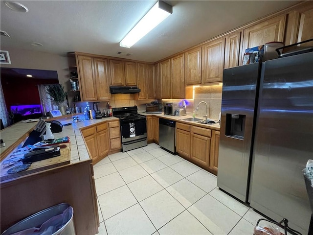
[[179,156],[190,159],[190,132],[176,129],[176,152]]

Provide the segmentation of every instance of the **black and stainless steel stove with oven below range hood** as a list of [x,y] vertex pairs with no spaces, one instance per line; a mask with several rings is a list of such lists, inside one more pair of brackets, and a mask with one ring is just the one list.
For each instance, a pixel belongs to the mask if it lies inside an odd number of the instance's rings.
[[119,118],[122,152],[147,146],[146,116],[137,114],[137,106],[113,108],[113,117]]

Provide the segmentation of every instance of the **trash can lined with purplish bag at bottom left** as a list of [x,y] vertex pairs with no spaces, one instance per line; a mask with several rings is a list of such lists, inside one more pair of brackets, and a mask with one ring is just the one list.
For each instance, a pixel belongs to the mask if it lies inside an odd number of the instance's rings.
[[21,220],[1,235],[23,235],[26,232],[33,235],[75,235],[73,215],[73,208],[61,203]]

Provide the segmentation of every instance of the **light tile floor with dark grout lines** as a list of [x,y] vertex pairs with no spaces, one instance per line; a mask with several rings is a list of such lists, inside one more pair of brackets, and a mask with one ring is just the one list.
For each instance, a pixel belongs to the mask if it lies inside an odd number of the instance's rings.
[[155,143],[94,165],[99,235],[252,235],[260,214]]

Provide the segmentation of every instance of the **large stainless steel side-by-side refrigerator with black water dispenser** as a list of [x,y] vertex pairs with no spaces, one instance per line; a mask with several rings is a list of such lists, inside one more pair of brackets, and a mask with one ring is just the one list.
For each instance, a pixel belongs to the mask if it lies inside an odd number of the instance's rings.
[[313,52],[225,69],[218,187],[306,234],[312,158]]

